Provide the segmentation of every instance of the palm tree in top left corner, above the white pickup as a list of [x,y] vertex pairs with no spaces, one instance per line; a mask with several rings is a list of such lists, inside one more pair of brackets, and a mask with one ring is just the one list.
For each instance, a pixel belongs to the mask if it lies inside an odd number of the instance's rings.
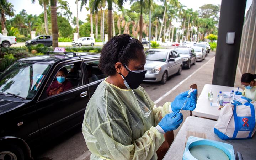
[[5,15],[6,16],[14,16],[14,9],[13,9],[13,5],[11,3],[9,3],[7,0],[1,0],[0,1],[0,20],[1,20],[1,25],[2,25],[2,30],[6,30],[5,27]]

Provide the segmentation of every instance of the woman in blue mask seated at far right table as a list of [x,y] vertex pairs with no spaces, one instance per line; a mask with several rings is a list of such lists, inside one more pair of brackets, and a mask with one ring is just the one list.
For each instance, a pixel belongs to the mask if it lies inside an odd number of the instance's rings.
[[236,91],[236,95],[243,95],[242,97],[248,102],[256,101],[256,74],[244,73],[241,77],[242,86],[245,87],[243,92]]

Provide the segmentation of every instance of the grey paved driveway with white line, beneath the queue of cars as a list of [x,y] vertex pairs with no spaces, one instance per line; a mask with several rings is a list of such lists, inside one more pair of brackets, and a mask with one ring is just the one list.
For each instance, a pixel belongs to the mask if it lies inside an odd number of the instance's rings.
[[[191,84],[197,84],[198,96],[200,95],[205,84],[212,83],[213,67],[215,60],[215,52],[210,52],[203,62],[197,62],[196,65],[191,66],[191,69],[183,69],[179,76],[171,76],[165,85],[159,83],[143,83],[141,86],[148,92],[153,101],[158,100],[166,92],[175,88],[171,94],[164,97],[156,105],[163,105],[165,102],[171,102],[174,98],[183,91],[189,89]],[[188,76],[191,76],[186,80]],[[235,87],[240,86],[240,73],[237,71]],[[182,111],[183,119],[189,116],[189,111]],[[182,123],[183,124],[183,123]],[[181,124],[181,126],[182,126]],[[181,128],[181,126],[179,128]],[[174,136],[177,135],[179,128],[174,131]],[[62,135],[58,139],[49,143],[47,146],[42,146],[37,149],[34,154],[36,160],[89,160],[90,151],[88,150],[84,137],[81,133],[81,127],[75,128],[70,132]]]

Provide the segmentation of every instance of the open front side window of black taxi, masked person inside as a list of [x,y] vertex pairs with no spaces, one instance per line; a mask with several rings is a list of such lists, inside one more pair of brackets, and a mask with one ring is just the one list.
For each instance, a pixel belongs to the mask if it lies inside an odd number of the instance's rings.
[[66,64],[53,75],[54,78],[46,85],[41,99],[82,86],[81,62]]

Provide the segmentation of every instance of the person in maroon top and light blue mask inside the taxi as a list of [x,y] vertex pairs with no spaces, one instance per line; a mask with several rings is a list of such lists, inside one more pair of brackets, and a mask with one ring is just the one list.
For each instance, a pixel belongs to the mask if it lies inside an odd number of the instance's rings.
[[54,80],[46,90],[47,96],[59,94],[73,87],[72,84],[66,80],[66,74],[68,74],[68,70],[65,67],[58,71],[56,80]]

